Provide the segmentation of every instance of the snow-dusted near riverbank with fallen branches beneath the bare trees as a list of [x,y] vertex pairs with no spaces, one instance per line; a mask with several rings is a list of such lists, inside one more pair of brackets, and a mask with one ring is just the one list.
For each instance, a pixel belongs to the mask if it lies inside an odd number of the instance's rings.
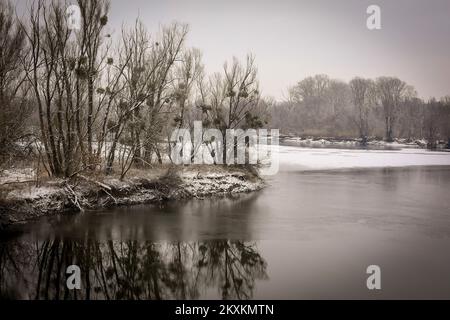
[[[244,168],[222,166],[160,167],[115,176],[79,175],[49,179],[39,186],[27,180],[31,169],[0,184],[0,230],[43,216],[73,214],[114,206],[132,206],[180,199],[226,196],[258,191],[264,181]],[[28,174],[28,175],[27,175]],[[20,177],[20,178],[17,178]]]

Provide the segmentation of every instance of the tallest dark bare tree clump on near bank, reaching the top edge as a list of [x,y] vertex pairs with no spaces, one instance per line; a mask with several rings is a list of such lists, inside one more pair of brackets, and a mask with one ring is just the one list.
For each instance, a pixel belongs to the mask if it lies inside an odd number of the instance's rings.
[[95,164],[93,130],[102,105],[94,107],[94,84],[100,79],[101,30],[108,4],[89,0],[79,5],[79,32],[68,27],[66,6],[53,1],[33,2],[22,25],[31,52],[25,72],[38,107],[48,171],[56,176],[71,176]]

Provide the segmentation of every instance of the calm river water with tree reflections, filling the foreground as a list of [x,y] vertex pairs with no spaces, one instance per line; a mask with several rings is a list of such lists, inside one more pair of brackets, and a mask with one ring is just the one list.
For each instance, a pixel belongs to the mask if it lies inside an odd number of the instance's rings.
[[[268,184],[29,223],[2,237],[0,297],[450,299],[450,166],[282,165]],[[367,289],[369,265],[381,290]]]

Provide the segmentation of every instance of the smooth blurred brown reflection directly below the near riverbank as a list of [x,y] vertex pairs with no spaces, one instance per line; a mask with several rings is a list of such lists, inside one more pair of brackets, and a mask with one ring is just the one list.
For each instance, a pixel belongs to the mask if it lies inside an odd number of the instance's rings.
[[[139,241],[257,240],[246,222],[259,192],[207,200],[110,208],[82,215],[45,217],[18,226],[16,236],[27,241],[49,237],[72,240]],[[14,235],[13,235],[14,236]],[[7,237],[9,238],[9,237]]]

